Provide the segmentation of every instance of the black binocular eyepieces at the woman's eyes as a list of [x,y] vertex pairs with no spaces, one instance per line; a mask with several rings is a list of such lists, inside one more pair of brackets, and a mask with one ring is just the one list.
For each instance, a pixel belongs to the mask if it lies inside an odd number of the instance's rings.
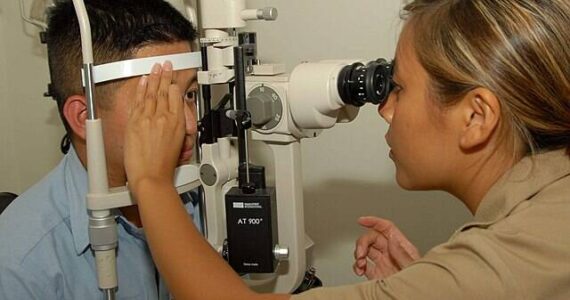
[[338,91],[342,101],[353,106],[366,103],[384,105],[394,88],[394,63],[380,58],[364,65],[356,62],[345,66],[339,73]]

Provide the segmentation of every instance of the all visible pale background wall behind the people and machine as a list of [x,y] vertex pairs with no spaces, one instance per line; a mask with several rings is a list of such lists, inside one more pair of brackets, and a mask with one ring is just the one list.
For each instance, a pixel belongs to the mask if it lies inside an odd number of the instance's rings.
[[[207,0],[205,0],[207,1]],[[255,23],[259,54],[291,70],[302,61],[392,58],[401,21],[399,0],[249,0],[275,6],[279,19]],[[19,17],[17,1],[0,1],[0,191],[21,193],[61,158],[46,52],[37,30]],[[357,282],[352,275],[356,219],[392,219],[422,252],[445,241],[468,220],[459,201],[440,192],[408,192],[394,181],[384,142],[387,125],[375,107],[350,124],[303,142],[307,232],[315,241],[312,264],[326,285]]]

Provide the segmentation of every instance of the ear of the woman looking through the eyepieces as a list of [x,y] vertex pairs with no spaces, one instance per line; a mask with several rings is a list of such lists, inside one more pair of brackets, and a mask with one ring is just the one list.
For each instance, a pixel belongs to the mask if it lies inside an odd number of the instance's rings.
[[499,127],[501,105],[490,90],[477,88],[461,100],[460,114],[463,125],[459,146],[469,151],[482,147],[491,140]]

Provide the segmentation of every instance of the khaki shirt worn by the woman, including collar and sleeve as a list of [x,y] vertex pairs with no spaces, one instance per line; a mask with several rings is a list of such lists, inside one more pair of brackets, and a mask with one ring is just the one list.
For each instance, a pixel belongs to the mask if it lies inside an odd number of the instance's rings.
[[570,158],[560,150],[521,160],[474,222],[404,270],[291,299],[570,299]]

